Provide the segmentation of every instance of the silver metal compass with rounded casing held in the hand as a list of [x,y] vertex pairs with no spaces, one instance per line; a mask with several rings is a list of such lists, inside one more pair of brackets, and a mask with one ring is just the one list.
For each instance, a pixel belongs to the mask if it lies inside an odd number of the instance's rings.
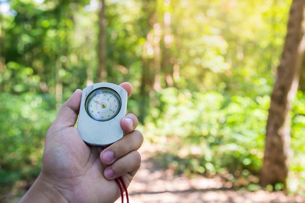
[[126,115],[127,91],[112,83],[83,89],[77,130],[88,145],[108,146],[124,135],[120,120]]

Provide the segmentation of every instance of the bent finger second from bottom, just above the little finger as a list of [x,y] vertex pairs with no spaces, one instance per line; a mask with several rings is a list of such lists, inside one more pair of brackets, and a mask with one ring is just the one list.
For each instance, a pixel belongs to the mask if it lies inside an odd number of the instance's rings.
[[126,134],[122,139],[118,140],[100,153],[100,160],[106,165],[113,164],[116,160],[137,150],[143,143],[143,135],[140,131],[134,130]]

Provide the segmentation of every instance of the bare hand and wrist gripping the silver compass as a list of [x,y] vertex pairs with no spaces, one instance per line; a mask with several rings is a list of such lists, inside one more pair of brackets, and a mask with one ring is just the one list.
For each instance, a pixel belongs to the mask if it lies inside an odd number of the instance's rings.
[[[120,84],[128,95],[133,87]],[[113,203],[120,197],[114,179],[122,177],[128,186],[140,167],[136,151],[143,142],[133,114],[121,119],[122,139],[108,148],[86,145],[75,128],[81,90],[63,104],[46,133],[41,172],[19,203]]]

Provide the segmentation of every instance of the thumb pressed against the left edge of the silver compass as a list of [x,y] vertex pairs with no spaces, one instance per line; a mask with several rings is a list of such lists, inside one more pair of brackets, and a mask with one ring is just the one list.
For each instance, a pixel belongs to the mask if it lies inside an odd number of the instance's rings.
[[82,91],[77,89],[62,105],[53,123],[54,125],[62,127],[71,127],[75,125],[79,112],[81,93]]

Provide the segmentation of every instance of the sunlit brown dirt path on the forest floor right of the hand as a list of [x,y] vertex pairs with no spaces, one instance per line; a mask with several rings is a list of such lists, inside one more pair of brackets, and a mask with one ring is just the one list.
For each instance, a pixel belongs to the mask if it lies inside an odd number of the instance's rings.
[[174,176],[171,170],[155,163],[148,149],[148,146],[140,149],[142,166],[128,190],[130,203],[305,203],[300,196],[285,196],[282,192],[233,191],[217,178],[190,180]]

